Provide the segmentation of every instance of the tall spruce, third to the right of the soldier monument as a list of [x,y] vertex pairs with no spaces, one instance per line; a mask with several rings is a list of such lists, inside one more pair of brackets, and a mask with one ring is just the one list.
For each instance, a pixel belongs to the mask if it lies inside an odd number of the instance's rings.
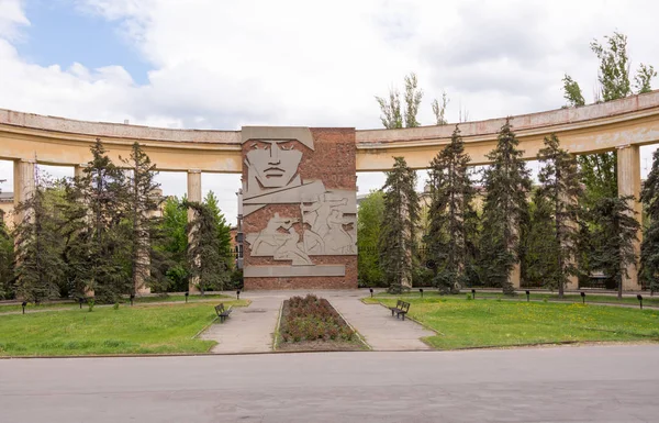
[[492,162],[484,171],[485,200],[482,215],[481,269],[489,285],[513,293],[511,272],[518,263],[520,226],[528,213],[529,170],[522,160],[520,141],[510,120],[499,132]]

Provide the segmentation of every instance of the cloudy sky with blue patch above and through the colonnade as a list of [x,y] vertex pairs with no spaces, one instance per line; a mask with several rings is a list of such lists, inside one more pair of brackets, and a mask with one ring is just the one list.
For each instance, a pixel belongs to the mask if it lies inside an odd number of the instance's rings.
[[[414,71],[422,124],[443,91],[449,122],[501,118],[563,105],[565,74],[592,102],[589,45],[614,31],[628,36],[633,74],[659,67],[658,14],[633,0],[0,0],[0,108],[176,129],[372,129],[375,96]],[[5,191],[11,178],[0,160]],[[383,180],[358,174],[359,193]],[[185,193],[185,174],[158,181]],[[237,175],[202,177],[230,222],[238,187]]]

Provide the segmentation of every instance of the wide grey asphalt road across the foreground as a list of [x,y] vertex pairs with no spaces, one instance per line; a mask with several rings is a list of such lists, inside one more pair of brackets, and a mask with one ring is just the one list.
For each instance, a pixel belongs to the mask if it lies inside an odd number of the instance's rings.
[[659,345],[0,360],[0,422],[657,422]]

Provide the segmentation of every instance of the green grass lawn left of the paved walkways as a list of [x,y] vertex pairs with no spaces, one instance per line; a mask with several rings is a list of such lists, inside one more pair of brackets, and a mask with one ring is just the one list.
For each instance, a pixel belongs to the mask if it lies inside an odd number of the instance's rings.
[[180,302],[5,314],[0,315],[0,356],[206,353],[215,343],[192,336],[214,318],[212,304]]

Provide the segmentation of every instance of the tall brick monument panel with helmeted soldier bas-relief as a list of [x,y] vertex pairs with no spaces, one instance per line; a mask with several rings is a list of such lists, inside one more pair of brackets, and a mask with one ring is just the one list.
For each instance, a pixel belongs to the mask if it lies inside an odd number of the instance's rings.
[[242,134],[245,288],[356,288],[355,130]]

